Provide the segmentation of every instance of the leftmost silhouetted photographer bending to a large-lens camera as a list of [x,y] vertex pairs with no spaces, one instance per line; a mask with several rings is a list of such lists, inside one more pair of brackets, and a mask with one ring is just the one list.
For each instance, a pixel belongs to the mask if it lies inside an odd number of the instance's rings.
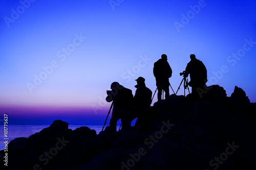
[[116,130],[119,119],[122,122],[122,129],[130,127],[130,112],[133,107],[132,90],[120,85],[118,82],[111,84],[111,90],[106,91],[106,101],[113,101],[113,112],[110,119],[110,127]]

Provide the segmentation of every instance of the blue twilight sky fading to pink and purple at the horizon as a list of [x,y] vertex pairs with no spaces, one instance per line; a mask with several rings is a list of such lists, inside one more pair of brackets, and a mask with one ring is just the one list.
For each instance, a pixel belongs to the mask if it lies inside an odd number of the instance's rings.
[[142,76],[154,93],[162,54],[175,92],[195,54],[208,86],[227,96],[238,86],[256,102],[255,1],[31,1],[0,7],[0,112],[12,124],[101,125],[111,83],[135,94]]

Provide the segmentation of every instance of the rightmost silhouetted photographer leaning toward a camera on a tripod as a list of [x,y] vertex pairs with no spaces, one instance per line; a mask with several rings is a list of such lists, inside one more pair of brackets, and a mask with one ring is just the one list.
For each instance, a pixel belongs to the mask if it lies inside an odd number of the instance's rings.
[[207,82],[207,69],[202,61],[196,59],[194,54],[190,55],[190,59],[191,61],[187,63],[185,72],[180,75],[184,75],[185,78],[190,75],[188,85],[192,87],[192,96],[194,100],[200,100],[202,98],[200,90],[204,89]]

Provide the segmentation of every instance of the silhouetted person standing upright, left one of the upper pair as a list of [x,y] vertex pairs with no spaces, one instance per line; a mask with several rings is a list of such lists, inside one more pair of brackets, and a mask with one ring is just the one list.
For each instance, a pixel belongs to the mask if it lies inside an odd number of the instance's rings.
[[154,63],[153,73],[156,78],[156,85],[158,89],[157,99],[161,100],[162,90],[165,92],[165,98],[169,94],[169,78],[172,77],[172,68],[170,68],[169,63],[167,62],[167,56],[163,54],[161,59]]

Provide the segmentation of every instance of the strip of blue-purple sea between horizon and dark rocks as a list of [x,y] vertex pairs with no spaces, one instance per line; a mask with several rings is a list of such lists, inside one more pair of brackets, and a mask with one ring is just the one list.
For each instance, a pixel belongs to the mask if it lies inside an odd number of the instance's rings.
[[[8,125],[8,139],[5,139],[5,131],[4,125],[0,125],[0,151],[5,149],[5,141],[7,140],[10,143],[11,140],[17,137],[26,137],[35,134],[36,132],[40,132],[44,128],[48,128],[50,125]],[[90,129],[94,129],[97,134],[102,130],[103,125],[69,125],[69,129],[75,130],[76,128],[80,128],[86,126]],[[105,125],[106,127],[107,125]],[[117,126],[117,129],[119,127]]]

